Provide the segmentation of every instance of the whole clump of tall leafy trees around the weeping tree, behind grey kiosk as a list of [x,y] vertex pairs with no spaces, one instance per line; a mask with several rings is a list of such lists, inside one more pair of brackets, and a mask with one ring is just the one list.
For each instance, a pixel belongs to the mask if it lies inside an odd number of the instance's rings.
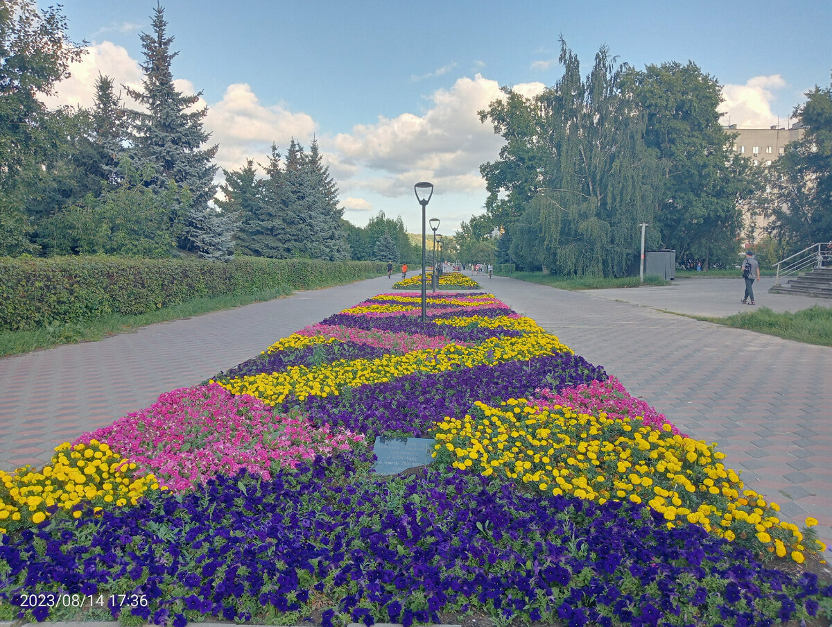
[[506,143],[480,168],[486,208],[506,230],[498,259],[559,274],[625,276],[641,222],[648,248],[733,261],[739,207],[759,187],[730,154],[721,87],[689,62],[617,66],[606,47],[587,77],[561,41],[564,74],[534,98],[508,88],[480,119]]

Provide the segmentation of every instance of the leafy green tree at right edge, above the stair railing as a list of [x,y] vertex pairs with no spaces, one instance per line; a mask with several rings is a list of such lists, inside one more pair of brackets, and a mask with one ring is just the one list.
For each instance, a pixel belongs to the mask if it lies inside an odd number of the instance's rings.
[[795,111],[805,135],[767,168],[759,199],[771,218],[766,230],[790,252],[832,241],[832,84],[806,97]]

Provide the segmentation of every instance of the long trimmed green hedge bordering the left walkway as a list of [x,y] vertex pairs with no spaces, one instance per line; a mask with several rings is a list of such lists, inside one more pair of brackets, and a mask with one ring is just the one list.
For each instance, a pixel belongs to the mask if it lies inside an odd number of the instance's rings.
[[[386,267],[386,266],[385,266]],[[21,331],[136,315],[201,296],[255,294],[280,286],[338,285],[382,271],[373,261],[116,256],[0,258],[0,329]]]

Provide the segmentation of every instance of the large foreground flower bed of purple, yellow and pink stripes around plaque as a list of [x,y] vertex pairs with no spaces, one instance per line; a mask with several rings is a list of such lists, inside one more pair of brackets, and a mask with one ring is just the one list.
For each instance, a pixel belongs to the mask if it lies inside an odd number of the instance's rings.
[[[832,613],[796,566],[822,549],[811,530],[713,445],[491,295],[431,295],[427,322],[420,305],[376,296],[0,473],[0,620]],[[377,477],[375,435],[435,437],[436,460]],[[22,607],[33,593],[72,602]]]

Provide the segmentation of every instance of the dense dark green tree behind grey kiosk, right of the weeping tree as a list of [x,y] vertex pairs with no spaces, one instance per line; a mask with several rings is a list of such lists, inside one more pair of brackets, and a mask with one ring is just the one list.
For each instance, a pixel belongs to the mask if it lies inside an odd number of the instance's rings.
[[651,225],[677,259],[726,265],[737,252],[738,202],[755,191],[747,160],[730,152],[720,123],[721,86],[694,62],[630,69],[622,88],[646,112],[646,145],[661,165],[661,202]]

